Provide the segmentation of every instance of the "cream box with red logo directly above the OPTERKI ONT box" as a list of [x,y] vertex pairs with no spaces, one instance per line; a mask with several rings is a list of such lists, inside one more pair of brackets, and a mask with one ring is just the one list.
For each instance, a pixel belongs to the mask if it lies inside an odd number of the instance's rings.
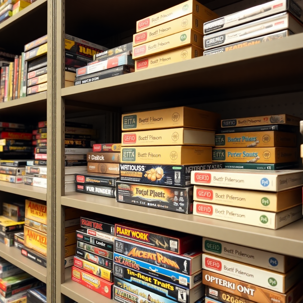
[[243,282],[264,287],[285,294],[302,278],[303,263],[297,265],[287,274],[241,262],[216,257],[208,253],[202,255],[202,268],[231,278],[241,278]]

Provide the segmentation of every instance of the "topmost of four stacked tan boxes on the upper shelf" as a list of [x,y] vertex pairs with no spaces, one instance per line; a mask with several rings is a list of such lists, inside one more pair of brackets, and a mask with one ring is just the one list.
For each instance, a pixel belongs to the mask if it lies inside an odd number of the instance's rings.
[[136,31],[141,32],[148,28],[163,24],[165,22],[188,14],[195,14],[205,21],[210,21],[218,18],[218,15],[216,13],[212,12],[204,5],[201,5],[198,1],[189,0],[137,21]]

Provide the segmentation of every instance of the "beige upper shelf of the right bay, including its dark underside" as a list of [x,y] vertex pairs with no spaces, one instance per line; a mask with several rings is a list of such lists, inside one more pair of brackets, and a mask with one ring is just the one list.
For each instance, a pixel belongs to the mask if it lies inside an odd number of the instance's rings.
[[303,69],[299,66],[303,66],[303,33],[62,88],[61,92],[68,100],[125,108],[167,99],[197,98],[199,103],[211,102],[302,90]]

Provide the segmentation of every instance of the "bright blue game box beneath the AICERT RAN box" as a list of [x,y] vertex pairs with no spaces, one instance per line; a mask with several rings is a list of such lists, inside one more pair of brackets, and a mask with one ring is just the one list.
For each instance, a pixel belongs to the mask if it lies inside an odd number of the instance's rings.
[[[194,275],[188,276],[182,273],[177,273],[174,270],[169,270],[159,265],[152,265],[144,262],[141,259],[135,259],[129,256],[125,256],[114,252],[114,262],[117,265],[122,265],[127,268],[139,271],[142,274],[146,274],[152,277],[158,277],[168,283],[174,283],[176,285],[183,285],[185,288],[194,288],[196,285],[201,284],[202,271],[198,271]],[[119,275],[119,272],[115,272],[115,276]]]

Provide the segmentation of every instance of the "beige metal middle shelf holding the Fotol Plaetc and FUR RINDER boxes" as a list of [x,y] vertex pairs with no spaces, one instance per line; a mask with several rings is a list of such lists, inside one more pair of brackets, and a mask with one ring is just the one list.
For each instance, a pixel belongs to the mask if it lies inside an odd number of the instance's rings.
[[270,230],[139,205],[118,203],[113,198],[74,191],[66,193],[61,198],[61,204],[262,250],[303,257],[303,234],[299,232],[303,229],[303,219],[284,228]]

